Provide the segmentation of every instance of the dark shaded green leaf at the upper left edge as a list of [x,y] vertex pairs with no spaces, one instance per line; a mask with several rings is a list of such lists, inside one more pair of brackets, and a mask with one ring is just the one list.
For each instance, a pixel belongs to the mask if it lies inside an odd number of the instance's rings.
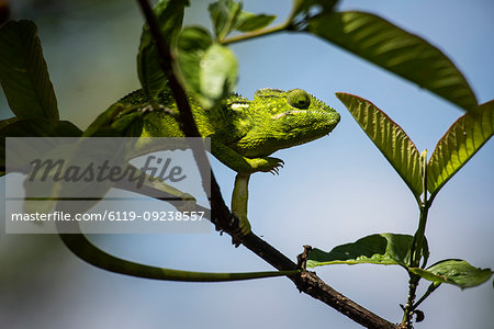
[[57,99],[33,22],[12,21],[0,29],[0,82],[19,118],[58,120]]

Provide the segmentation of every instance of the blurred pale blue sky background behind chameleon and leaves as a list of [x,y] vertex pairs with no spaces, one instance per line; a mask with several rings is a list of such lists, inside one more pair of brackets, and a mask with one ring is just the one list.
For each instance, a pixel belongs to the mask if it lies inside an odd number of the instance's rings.
[[[207,2],[192,2],[200,10],[188,12],[187,22],[209,24],[201,11]],[[290,1],[246,1],[245,8],[283,18]],[[492,1],[355,0],[341,1],[340,10],[377,13],[420,35],[453,60],[480,102],[493,99]],[[48,20],[37,24],[63,118],[86,127],[99,112],[138,88],[135,55],[142,18],[135,8],[121,9],[110,20],[93,21],[82,12],[57,29]],[[418,211],[412,193],[334,93],[369,99],[405,129],[420,151],[429,154],[461,110],[313,36],[279,34],[233,49],[240,64],[237,91],[245,97],[252,98],[265,87],[303,88],[341,114],[329,137],[277,152],[285,161],[279,177],[251,178],[254,231],[292,259],[303,245],[332,249],[374,232],[413,234]],[[1,117],[9,116],[3,97],[0,111]],[[494,268],[493,160],[491,140],[438,194],[427,226],[429,263],[460,258]],[[234,172],[216,160],[213,169],[229,200]],[[116,256],[146,264],[197,271],[270,270],[215,232],[92,238]],[[45,245],[49,252],[40,251]],[[42,261],[35,261],[38,252]],[[299,294],[287,279],[191,284],[126,277],[82,263],[57,237],[2,234],[0,260],[8,268],[0,286],[10,287],[0,296],[0,317],[12,328],[33,324],[43,328],[360,328]],[[398,304],[407,294],[402,269],[335,265],[316,272],[357,303],[400,320]],[[489,283],[467,291],[441,286],[423,304],[426,321],[416,328],[490,328],[493,303]]]

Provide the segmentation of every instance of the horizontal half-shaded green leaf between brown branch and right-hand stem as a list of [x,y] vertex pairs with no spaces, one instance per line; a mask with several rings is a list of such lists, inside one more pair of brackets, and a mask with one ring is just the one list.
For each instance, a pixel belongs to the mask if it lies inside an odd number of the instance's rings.
[[[414,237],[408,235],[380,234],[335,247],[329,252],[315,248],[308,253],[307,266],[361,263],[408,266],[413,241]],[[427,243],[423,254],[428,256]]]

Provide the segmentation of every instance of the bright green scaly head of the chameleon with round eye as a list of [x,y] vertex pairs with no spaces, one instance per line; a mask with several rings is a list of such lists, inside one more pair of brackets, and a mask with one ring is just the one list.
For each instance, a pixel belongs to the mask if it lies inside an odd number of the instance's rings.
[[243,139],[257,143],[248,156],[267,156],[321,138],[339,122],[338,112],[302,89],[258,90],[250,109],[256,125]]

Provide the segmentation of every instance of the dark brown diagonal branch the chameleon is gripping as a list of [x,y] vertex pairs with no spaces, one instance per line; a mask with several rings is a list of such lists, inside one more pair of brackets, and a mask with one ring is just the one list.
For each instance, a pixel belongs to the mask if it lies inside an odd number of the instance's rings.
[[[188,137],[200,137],[198,127],[194,123],[190,104],[187,100],[187,94],[182,86],[179,83],[177,76],[173,72],[175,59],[171,55],[169,47],[166,45],[164,37],[159,31],[156,18],[147,0],[137,0],[141,9],[146,18],[146,22],[149,26],[149,31],[156,43],[158,54],[160,55],[161,68],[166,72],[168,82],[170,84],[171,92],[177,102],[177,106],[180,112],[180,122],[182,124],[182,131]],[[201,174],[206,177],[203,172],[203,168],[210,168],[201,166],[201,163],[207,163],[207,157],[204,150],[193,150],[194,158],[200,168]],[[202,169],[201,169],[202,167]],[[225,205],[220,185],[217,184],[213,172],[211,172],[211,208],[212,208],[212,222],[215,224],[216,229],[226,231],[231,235],[237,243],[244,245],[250,251],[258,257],[270,263],[277,270],[295,270],[297,265],[289,258],[270,246],[265,240],[260,239],[254,232],[246,236],[240,236],[238,231],[238,220],[232,216],[228,207]],[[343,313],[347,317],[351,318],[356,322],[367,328],[397,328],[395,325],[386,321],[370,310],[363,308],[357,303],[348,299],[327,284],[325,284],[313,272],[303,271],[301,274],[289,276],[296,287],[314,298],[322,300],[336,310]]]

